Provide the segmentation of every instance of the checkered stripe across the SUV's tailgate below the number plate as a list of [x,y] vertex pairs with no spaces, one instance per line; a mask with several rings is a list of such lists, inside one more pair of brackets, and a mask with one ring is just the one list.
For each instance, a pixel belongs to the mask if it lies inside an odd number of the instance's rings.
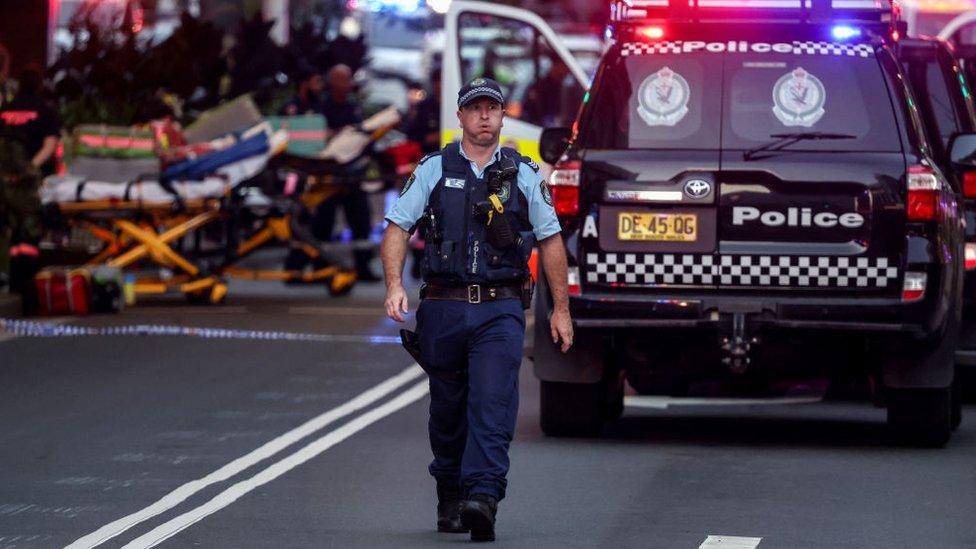
[[886,288],[886,257],[587,253],[586,281],[634,286]]

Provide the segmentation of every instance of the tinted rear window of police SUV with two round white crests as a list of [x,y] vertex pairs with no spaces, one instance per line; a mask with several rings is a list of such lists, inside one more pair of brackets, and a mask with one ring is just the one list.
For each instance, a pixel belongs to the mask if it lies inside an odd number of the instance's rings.
[[606,62],[587,111],[581,137],[588,148],[737,150],[775,134],[826,132],[853,138],[789,149],[901,150],[874,54],[620,56]]

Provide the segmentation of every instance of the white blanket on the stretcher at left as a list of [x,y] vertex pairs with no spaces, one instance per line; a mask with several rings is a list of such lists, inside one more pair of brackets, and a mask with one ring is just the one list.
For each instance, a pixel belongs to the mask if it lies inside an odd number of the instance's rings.
[[[268,159],[280,150],[283,135],[272,136],[270,149],[260,154],[227,164],[217,169],[217,174],[202,181],[174,181],[173,190],[182,200],[220,198],[243,181],[261,173]],[[80,188],[80,191],[79,191]],[[41,202],[92,202],[98,200],[128,200],[143,203],[173,203],[176,197],[158,181],[145,180],[129,183],[90,181],[74,175],[50,176],[41,185]]]

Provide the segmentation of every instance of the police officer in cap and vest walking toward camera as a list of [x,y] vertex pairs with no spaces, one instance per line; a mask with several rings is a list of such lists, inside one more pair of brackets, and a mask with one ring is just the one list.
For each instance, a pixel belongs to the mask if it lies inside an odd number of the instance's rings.
[[525,335],[520,297],[536,242],[552,289],[553,342],[566,352],[573,340],[559,221],[538,166],[499,145],[504,104],[491,79],[461,88],[461,142],[421,161],[387,216],[382,245],[386,313],[403,322],[407,239],[421,221],[427,245],[417,335],[431,373],[437,529],[470,530],[475,541],[494,540],[505,496]]

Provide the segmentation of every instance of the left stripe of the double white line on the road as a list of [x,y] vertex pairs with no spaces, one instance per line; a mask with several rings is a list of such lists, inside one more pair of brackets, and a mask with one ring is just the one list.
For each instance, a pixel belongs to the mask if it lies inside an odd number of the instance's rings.
[[[280,452],[286,447],[298,442],[299,440],[311,435],[312,433],[322,429],[323,427],[333,423],[340,418],[357,412],[377,400],[385,397],[386,395],[392,393],[393,391],[399,389],[400,387],[410,383],[417,377],[423,375],[423,370],[420,366],[413,364],[399,374],[387,379],[386,381],[380,383],[379,385],[361,393],[359,396],[349,400],[348,402],[329,410],[319,416],[316,416],[309,421],[306,421],[302,425],[288,431],[287,433],[275,438],[274,440],[265,443],[259,448],[252,450],[250,453],[235,459],[234,461],[224,465],[220,469],[217,469],[209,475],[188,482],[179,488],[173,490],[169,494],[166,494],[161,499],[146,507],[141,509],[131,515],[127,515],[118,520],[110,522],[105,526],[102,526],[98,530],[78,538],[71,545],[68,545],[69,549],[79,549],[82,547],[91,548],[118,536],[122,532],[125,532],[129,528],[149,520],[156,515],[165,513],[169,509],[176,507],[187,498],[196,494],[204,488],[216,484],[218,482],[223,482],[232,476],[240,473],[241,471],[253,466],[254,464],[263,461],[272,455]],[[425,381],[426,383],[426,381]]]

